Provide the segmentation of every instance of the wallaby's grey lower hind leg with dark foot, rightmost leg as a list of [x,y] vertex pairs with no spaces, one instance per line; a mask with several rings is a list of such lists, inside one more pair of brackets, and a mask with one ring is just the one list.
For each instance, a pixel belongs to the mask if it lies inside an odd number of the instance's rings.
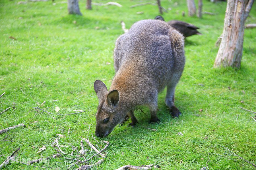
[[169,107],[170,113],[173,117],[179,117],[181,114],[179,109],[174,105],[174,92],[177,82],[178,81],[172,81],[169,85],[167,85],[167,92],[165,97],[165,104]]

